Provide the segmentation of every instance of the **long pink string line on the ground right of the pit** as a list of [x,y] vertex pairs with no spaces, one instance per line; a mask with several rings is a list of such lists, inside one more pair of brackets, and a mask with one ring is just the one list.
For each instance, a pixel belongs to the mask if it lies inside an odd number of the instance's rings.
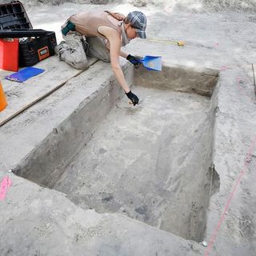
[[211,235],[210,237],[210,243],[205,251],[205,256],[208,256],[209,253],[210,253],[210,250],[215,242],[215,239],[217,237],[217,234],[218,234],[218,230],[220,229],[220,227],[222,226],[222,222],[225,218],[225,214],[226,214],[226,211],[229,209],[230,207],[230,202],[231,202],[231,199],[234,197],[234,193],[235,191],[237,190],[238,188],[238,184],[240,183],[241,179],[242,179],[242,176],[243,174],[245,173],[246,171],[246,168],[248,166],[248,162],[250,162],[250,158],[252,156],[252,153],[254,151],[254,146],[256,144],[256,138],[254,138],[254,141],[251,143],[250,145],[250,150],[248,151],[248,153],[246,154],[246,158],[245,158],[245,161],[244,161],[244,166],[242,168],[242,170],[240,171],[240,173],[238,174],[238,178],[237,178],[237,181],[235,182],[235,185],[234,185],[234,189],[232,190],[231,194],[230,194],[230,197],[228,198],[227,202],[226,202],[226,206],[225,206],[225,209],[223,211],[223,214],[218,222],[218,225],[216,226],[213,234]]

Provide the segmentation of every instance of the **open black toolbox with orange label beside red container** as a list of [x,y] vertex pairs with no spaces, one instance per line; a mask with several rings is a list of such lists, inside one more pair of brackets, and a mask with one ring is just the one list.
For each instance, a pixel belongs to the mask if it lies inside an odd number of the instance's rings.
[[19,1],[0,4],[0,38],[20,38],[19,66],[33,66],[54,55],[54,47],[57,46],[53,31],[33,30]]

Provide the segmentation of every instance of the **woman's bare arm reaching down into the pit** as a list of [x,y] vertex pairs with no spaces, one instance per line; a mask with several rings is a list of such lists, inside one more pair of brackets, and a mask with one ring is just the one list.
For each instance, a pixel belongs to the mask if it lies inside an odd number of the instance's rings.
[[112,70],[114,71],[114,75],[119,84],[122,86],[122,89],[128,93],[130,88],[119,63],[119,55],[121,53],[120,35],[118,34],[118,31],[114,30],[110,26],[99,26],[98,32],[106,36],[110,42],[110,62]]

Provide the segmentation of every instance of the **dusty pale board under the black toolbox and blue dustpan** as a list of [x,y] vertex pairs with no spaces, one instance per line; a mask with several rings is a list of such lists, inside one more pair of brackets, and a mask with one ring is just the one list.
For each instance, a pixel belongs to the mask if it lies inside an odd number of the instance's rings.
[[[88,58],[88,67],[97,61],[97,58]],[[59,61],[57,56],[38,62],[34,67],[42,68],[45,71],[22,83],[4,79],[6,75],[14,72],[0,70],[3,90],[8,102],[6,109],[0,112],[0,126],[22,113],[28,107],[33,106],[42,98],[52,94],[54,90],[58,90],[70,78],[74,78],[85,71],[72,68],[65,62]]]

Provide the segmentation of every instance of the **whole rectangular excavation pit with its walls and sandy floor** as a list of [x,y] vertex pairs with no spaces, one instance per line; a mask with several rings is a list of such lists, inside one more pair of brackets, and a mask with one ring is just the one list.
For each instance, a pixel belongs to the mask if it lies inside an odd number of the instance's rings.
[[14,173],[85,210],[125,214],[200,242],[219,186],[212,165],[218,71],[128,66],[125,73],[138,106],[106,82]]

